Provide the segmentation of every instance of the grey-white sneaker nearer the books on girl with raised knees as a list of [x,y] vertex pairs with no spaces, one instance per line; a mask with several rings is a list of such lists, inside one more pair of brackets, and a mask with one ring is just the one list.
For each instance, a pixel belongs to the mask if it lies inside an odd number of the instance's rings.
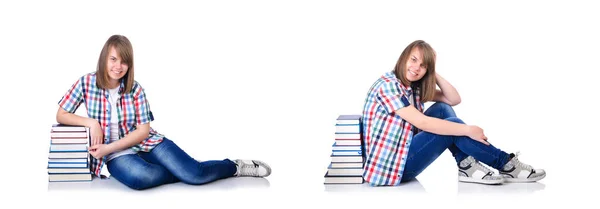
[[480,184],[502,184],[504,179],[475,160],[475,158],[469,156],[458,164],[458,181]]

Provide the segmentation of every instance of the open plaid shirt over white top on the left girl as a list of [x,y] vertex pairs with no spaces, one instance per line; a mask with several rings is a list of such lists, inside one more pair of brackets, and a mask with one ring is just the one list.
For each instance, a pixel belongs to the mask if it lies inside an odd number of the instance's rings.
[[[138,124],[146,124],[154,120],[150,105],[146,100],[144,89],[139,83],[134,82],[131,92],[124,93],[125,84],[119,87],[120,99],[116,111],[119,115],[119,139],[136,129]],[[104,131],[104,143],[110,140],[110,108],[108,90],[96,86],[96,73],[89,73],[78,79],[67,93],[60,99],[58,105],[65,111],[75,113],[81,103],[85,103],[88,117],[97,120]],[[131,147],[134,151],[149,152],[163,140],[163,135],[150,128],[150,134],[141,143]],[[100,176],[105,157],[96,159],[92,157],[91,170]]]

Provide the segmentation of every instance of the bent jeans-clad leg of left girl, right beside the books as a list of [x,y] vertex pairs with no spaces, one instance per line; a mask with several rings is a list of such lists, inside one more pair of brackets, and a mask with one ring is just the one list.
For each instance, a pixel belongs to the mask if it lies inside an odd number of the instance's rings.
[[139,155],[119,156],[109,161],[106,166],[115,179],[136,190],[179,181],[163,166],[148,163]]

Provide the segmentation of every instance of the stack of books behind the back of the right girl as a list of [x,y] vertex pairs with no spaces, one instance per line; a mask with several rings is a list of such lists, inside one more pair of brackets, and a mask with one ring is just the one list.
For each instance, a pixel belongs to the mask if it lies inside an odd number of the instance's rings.
[[362,184],[364,152],[362,116],[340,115],[335,125],[335,142],[325,184]]

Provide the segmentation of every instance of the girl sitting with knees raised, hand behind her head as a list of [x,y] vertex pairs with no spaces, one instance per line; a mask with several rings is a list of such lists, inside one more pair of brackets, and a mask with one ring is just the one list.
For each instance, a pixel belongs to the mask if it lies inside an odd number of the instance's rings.
[[[492,146],[483,129],[456,117],[451,106],[460,103],[460,96],[435,72],[435,59],[429,44],[414,41],[404,49],[394,71],[369,89],[363,110],[365,181],[380,186],[413,180],[446,149],[457,162],[462,182],[501,184],[544,178],[544,170]],[[423,113],[427,101],[436,103]],[[500,175],[481,162],[498,169]]]

